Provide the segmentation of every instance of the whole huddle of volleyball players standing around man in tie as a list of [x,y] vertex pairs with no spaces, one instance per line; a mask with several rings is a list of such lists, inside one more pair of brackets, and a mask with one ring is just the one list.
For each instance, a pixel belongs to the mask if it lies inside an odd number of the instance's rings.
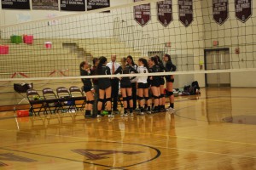
[[[172,64],[169,54],[165,54],[162,61],[159,56],[150,57],[148,60],[140,58],[137,64],[134,63],[131,55],[122,58],[120,64],[116,62],[116,55],[111,56],[109,63],[106,57],[94,58],[92,67],[88,62],[83,61],[80,64],[80,75],[92,76],[91,79],[82,78],[86,94],[84,116],[100,118],[102,111],[108,111],[108,117],[112,118],[113,112],[119,112],[117,108],[119,88],[124,105],[121,116],[133,116],[133,111],[137,111],[138,115],[174,111],[172,92],[174,77],[172,75],[143,76],[146,73],[172,71],[176,71],[176,66]],[[93,77],[94,75],[119,74],[140,74],[140,77]],[[167,108],[166,96],[170,100]]]

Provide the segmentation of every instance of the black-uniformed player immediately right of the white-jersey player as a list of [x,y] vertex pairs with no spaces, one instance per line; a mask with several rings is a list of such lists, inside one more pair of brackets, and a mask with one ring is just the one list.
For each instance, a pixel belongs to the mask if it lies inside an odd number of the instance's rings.
[[[160,72],[156,57],[148,59],[148,64],[151,67],[152,73]],[[151,80],[151,91],[154,98],[154,109],[152,110],[152,113],[157,113],[160,111],[160,76],[149,77],[149,79]]]

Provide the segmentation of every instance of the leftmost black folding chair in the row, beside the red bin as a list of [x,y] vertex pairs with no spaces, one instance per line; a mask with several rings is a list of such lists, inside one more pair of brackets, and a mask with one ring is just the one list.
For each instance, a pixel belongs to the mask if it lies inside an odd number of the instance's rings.
[[26,91],[26,98],[28,99],[28,102],[30,104],[30,111],[32,112],[32,114],[36,116],[36,113],[38,113],[39,115],[40,112],[45,111],[42,110],[44,108],[45,100],[41,98],[36,90],[28,89]]

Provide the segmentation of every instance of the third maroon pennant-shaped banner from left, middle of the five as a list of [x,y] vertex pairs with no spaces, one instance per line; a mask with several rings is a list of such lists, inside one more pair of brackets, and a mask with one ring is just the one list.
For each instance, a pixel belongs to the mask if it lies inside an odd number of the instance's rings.
[[178,0],[178,20],[186,27],[192,23],[193,0]]

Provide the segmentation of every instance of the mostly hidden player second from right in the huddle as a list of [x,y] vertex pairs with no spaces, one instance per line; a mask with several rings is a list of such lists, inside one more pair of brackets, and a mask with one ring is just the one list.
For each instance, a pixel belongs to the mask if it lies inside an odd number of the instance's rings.
[[[160,60],[160,57],[158,55],[154,56],[157,61],[158,65],[160,67],[160,72],[166,71],[166,68],[163,64],[163,62]],[[164,77],[160,77],[160,111],[166,111],[166,95],[165,95],[165,79]]]

